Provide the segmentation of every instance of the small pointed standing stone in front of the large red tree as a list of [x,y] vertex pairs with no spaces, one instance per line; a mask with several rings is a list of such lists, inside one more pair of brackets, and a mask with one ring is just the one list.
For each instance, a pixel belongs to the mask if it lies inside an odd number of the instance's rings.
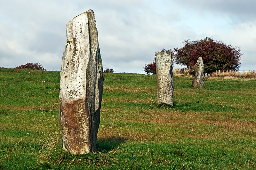
[[196,65],[192,70],[195,71],[195,78],[192,82],[192,87],[204,87],[204,63],[202,57],[199,57]]

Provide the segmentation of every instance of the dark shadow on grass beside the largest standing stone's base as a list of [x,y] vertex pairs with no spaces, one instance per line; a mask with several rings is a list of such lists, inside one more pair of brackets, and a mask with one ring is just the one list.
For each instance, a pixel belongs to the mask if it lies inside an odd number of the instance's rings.
[[113,136],[103,139],[97,139],[97,151],[112,151],[124,144],[128,138],[122,136]]

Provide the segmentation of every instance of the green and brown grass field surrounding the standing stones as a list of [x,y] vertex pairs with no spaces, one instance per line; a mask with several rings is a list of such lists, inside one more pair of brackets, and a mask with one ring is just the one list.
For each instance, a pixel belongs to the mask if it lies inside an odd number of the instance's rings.
[[0,68],[0,169],[255,169],[256,80],[104,73],[98,152],[62,150],[60,72]]

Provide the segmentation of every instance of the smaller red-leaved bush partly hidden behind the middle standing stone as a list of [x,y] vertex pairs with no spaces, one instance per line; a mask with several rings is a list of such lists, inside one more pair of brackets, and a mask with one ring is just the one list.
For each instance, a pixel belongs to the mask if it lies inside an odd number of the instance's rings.
[[162,48],[160,51],[157,51],[155,53],[155,57],[154,57],[154,60],[153,60],[153,63],[148,63],[145,65],[144,67],[144,71],[149,74],[149,73],[152,73],[152,74],[156,74],[156,55],[159,53],[159,52],[166,52],[167,54],[171,55],[172,57],[172,60],[173,60],[173,57],[174,57],[174,52],[172,51],[172,49],[165,49],[165,48]]

